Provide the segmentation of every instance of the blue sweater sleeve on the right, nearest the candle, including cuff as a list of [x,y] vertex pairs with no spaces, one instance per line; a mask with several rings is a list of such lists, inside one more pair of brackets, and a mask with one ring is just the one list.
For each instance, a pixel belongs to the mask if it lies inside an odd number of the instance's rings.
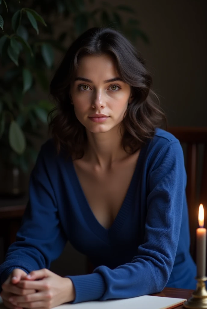
[[177,251],[186,187],[178,140],[161,147],[150,166],[146,186],[145,236],[137,255],[115,269],[101,265],[92,274],[66,276],[75,286],[73,303],[157,293],[167,284]]

